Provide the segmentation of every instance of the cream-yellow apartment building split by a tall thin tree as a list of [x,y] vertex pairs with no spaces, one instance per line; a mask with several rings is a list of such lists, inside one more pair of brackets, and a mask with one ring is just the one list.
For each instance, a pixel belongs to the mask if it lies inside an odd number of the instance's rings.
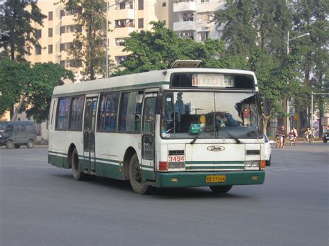
[[[109,21],[108,53],[116,64],[120,64],[126,57],[122,51],[122,41],[129,33],[140,30],[150,30],[150,21],[164,21],[169,26],[170,0],[110,0],[107,18]],[[72,69],[81,64],[72,62],[67,50],[74,40],[75,30],[81,30],[74,21],[74,16],[65,11],[65,6],[58,0],[39,0],[37,6],[46,15],[43,26],[35,24],[40,46],[30,50],[31,55],[26,60],[37,62],[55,62]],[[80,28],[80,29],[79,29]],[[104,40],[105,42],[105,40]]]

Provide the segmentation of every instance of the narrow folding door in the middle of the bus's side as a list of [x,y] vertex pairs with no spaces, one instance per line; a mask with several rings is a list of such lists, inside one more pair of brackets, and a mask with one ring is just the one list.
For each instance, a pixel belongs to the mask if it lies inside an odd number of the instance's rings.
[[[86,98],[85,117],[83,123],[83,155],[84,167],[95,172],[95,125],[96,125],[97,98]],[[85,163],[87,161],[87,164]]]

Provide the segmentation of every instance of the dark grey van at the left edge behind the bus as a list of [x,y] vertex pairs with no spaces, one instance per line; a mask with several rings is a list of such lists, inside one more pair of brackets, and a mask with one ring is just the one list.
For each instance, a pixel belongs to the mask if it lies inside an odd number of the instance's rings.
[[33,148],[35,139],[37,139],[37,133],[33,122],[0,122],[0,146],[20,148],[24,145],[27,148]]

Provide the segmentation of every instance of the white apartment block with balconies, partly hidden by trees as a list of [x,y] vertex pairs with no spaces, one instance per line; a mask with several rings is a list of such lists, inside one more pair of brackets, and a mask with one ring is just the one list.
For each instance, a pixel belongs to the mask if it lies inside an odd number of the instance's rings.
[[216,28],[211,12],[225,7],[225,0],[174,0],[173,30],[181,38],[196,42],[219,39],[223,28]]

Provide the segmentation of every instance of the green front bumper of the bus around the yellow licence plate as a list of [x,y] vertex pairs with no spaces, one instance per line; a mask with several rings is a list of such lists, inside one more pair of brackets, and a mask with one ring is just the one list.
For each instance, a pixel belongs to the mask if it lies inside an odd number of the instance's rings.
[[[264,170],[244,170],[226,172],[156,172],[156,186],[165,187],[196,187],[196,186],[223,186],[223,185],[246,185],[263,184],[265,179]],[[211,177],[217,176],[221,182],[210,182]],[[223,177],[225,176],[225,177]],[[206,179],[208,182],[206,182]]]

